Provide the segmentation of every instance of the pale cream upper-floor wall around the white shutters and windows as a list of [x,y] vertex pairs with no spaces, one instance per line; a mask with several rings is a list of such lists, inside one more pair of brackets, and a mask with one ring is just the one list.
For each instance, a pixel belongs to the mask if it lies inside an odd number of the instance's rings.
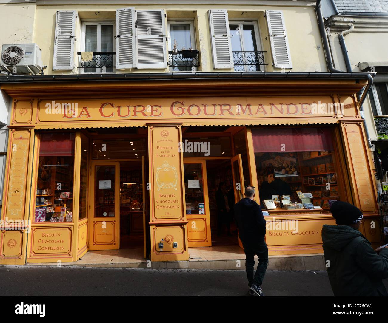
[[[54,29],[55,29],[55,14],[57,10],[77,10],[85,16],[90,12],[95,19],[114,15],[114,11],[118,8],[128,7],[129,5],[104,5],[104,6],[37,6],[36,7],[36,23],[35,35],[33,41],[38,43],[42,48],[42,59],[44,65],[48,68],[45,74],[69,74],[78,73],[76,69],[70,71],[52,71],[52,58],[54,50]],[[209,9],[227,9],[228,12],[239,12],[239,17],[249,18],[250,16],[258,19],[260,25],[260,33],[263,43],[263,50],[267,50],[266,62],[272,63],[272,55],[270,53],[269,39],[265,40],[268,35],[267,21],[263,17],[265,9],[283,10],[286,31],[288,34],[289,47],[291,51],[291,59],[293,69],[291,71],[327,71],[326,60],[322,48],[322,42],[319,36],[317,18],[314,7],[279,7],[279,6],[248,6],[248,5],[134,5],[135,9],[165,9],[168,17],[195,15],[197,22],[197,48],[200,49],[201,67],[199,71],[204,72],[224,72],[232,71],[232,69],[213,69],[213,59],[211,54],[211,38],[209,31]],[[247,13],[246,13],[247,12]],[[80,25],[77,24],[77,39],[76,51],[80,51],[81,36]],[[267,66],[267,71],[274,71],[271,65]],[[281,69],[275,69],[281,71]],[[287,70],[286,70],[287,71]],[[117,71],[116,73],[156,73],[168,72],[168,69],[133,69]]]

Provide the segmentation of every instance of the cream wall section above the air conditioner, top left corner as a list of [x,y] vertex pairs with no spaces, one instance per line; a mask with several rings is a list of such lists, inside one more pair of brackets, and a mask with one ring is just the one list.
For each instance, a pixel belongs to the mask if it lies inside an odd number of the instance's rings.
[[35,3],[0,4],[0,45],[32,43],[35,12]]

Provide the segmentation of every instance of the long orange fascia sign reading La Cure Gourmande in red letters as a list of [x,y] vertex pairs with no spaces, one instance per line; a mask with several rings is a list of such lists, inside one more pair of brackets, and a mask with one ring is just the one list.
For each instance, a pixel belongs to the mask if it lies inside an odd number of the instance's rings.
[[42,100],[37,121],[327,117],[352,108],[353,104],[337,107],[329,96]]

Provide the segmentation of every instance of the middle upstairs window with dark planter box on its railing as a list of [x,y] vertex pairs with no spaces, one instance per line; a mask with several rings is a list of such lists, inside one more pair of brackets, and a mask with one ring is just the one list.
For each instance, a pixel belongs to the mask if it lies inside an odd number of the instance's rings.
[[171,72],[192,71],[199,66],[195,45],[194,21],[168,21],[170,35],[168,65]]

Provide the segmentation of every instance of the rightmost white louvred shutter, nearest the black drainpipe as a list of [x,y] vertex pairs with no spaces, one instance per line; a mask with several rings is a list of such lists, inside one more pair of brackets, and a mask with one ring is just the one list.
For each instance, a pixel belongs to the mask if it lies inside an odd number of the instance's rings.
[[286,26],[281,10],[265,10],[274,67],[292,68]]

